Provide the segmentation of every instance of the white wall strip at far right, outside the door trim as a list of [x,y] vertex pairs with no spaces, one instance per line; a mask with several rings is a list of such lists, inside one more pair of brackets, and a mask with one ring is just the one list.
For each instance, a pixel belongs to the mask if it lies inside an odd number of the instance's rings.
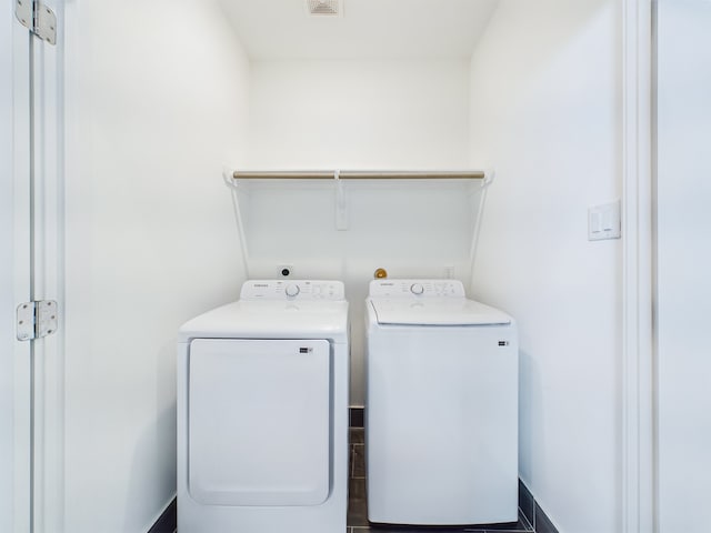
[[711,509],[711,3],[658,2],[657,391],[661,533]]

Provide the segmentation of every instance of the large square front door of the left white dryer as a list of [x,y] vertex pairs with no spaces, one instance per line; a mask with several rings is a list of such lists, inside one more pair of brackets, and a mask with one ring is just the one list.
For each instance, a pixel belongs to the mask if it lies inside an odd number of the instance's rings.
[[206,505],[318,505],[330,492],[326,340],[190,344],[188,489]]

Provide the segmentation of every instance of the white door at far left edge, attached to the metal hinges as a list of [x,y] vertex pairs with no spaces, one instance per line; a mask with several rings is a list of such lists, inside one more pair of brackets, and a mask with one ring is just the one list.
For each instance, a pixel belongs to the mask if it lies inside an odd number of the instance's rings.
[[30,344],[16,306],[30,298],[29,38],[0,12],[0,531],[30,531]]

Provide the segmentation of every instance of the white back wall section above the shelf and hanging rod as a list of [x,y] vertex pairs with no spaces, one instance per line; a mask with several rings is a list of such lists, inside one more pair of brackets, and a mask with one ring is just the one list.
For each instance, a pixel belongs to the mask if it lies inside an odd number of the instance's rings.
[[251,73],[250,167],[468,162],[465,60],[257,61]]

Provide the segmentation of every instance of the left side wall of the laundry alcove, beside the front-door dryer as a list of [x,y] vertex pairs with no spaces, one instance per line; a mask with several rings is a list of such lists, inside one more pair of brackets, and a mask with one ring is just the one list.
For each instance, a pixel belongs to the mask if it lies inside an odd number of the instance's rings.
[[67,40],[63,531],[144,532],[176,491],[177,330],[243,279],[221,172],[249,62],[204,0],[69,2]]

